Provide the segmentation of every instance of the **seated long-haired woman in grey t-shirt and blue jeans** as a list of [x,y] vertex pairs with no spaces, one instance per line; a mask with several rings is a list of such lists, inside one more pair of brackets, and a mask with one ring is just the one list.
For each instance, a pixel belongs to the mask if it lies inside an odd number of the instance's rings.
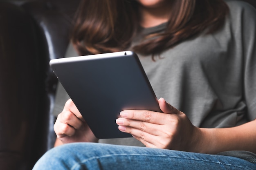
[[83,0],[74,49],[137,52],[163,113],[124,110],[134,138],[99,141],[146,147],[93,144],[69,99],[54,125],[65,145],[34,169],[255,169],[255,18],[235,0]]

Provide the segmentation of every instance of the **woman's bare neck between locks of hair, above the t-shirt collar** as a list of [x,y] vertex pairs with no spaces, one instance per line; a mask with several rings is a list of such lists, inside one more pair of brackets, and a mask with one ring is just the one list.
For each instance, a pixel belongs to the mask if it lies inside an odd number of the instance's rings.
[[144,28],[149,28],[157,26],[164,22],[167,22],[169,19],[170,7],[164,8],[140,8],[141,14],[141,26]]

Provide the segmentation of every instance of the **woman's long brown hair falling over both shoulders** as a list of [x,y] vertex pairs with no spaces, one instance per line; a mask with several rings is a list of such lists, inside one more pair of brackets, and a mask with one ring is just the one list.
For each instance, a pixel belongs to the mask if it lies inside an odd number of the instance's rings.
[[[143,55],[159,54],[194,35],[218,30],[229,11],[223,0],[171,0],[166,30],[147,35],[133,47]],[[124,51],[139,30],[136,0],[82,0],[72,43],[81,55]]]

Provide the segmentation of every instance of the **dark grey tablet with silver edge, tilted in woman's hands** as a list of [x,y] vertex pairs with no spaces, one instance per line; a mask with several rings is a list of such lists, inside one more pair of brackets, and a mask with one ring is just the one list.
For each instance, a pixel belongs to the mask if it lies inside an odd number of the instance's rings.
[[99,139],[131,137],[118,130],[122,110],[161,112],[136,53],[122,51],[54,59],[59,82]]

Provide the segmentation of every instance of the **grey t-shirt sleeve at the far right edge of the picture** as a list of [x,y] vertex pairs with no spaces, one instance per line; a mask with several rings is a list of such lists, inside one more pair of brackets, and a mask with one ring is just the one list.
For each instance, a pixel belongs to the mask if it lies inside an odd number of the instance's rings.
[[248,119],[256,119],[256,9],[245,4],[242,23],[244,56],[244,97]]

